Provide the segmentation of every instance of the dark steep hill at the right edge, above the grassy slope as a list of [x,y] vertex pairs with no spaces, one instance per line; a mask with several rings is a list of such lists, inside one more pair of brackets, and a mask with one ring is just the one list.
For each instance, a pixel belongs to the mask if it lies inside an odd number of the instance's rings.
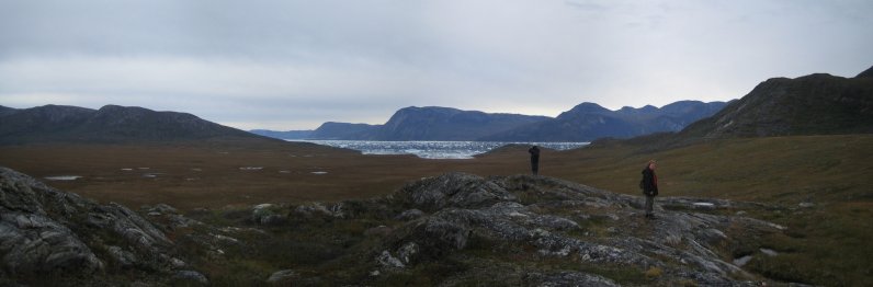
[[873,68],[855,78],[815,73],[773,78],[682,138],[772,137],[873,133]]

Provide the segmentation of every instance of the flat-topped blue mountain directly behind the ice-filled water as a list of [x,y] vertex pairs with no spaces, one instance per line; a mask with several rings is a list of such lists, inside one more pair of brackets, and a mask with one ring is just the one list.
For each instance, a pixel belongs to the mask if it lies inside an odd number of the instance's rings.
[[410,106],[397,111],[385,125],[363,137],[372,140],[473,140],[546,119],[549,117]]

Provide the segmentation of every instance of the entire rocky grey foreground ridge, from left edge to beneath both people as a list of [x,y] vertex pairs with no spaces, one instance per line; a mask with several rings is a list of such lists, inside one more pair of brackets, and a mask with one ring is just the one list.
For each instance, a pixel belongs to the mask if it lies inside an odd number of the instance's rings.
[[784,229],[735,215],[761,205],[684,197],[659,199],[647,220],[639,197],[526,175],[146,217],[8,169],[0,184],[0,284],[759,286],[773,282],[744,265],[780,256],[756,242]]

